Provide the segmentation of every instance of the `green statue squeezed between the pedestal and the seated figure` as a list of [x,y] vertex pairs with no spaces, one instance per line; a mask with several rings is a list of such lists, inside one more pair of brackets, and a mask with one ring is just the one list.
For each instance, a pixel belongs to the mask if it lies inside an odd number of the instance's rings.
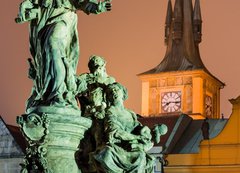
[[90,56],[88,68],[90,73],[77,76],[77,91],[82,116],[92,120],[91,128],[86,131],[84,139],[81,140],[81,152],[77,155],[79,167],[86,173],[95,171],[90,155],[102,145],[103,122],[107,106],[105,90],[107,85],[115,82],[115,79],[106,72],[106,61],[103,57]]

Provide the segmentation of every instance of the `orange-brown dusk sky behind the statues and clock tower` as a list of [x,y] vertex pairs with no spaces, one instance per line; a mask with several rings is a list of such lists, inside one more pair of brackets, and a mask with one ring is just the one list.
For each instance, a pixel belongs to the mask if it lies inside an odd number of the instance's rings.
[[[78,12],[80,60],[78,74],[87,72],[92,54],[105,57],[108,74],[128,88],[126,107],[141,112],[141,82],[136,76],[160,63],[166,51],[164,23],[168,0],[113,0],[101,15]],[[21,0],[0,6],[0,115],[15,124],[24,113],[32,81],[27,78],[28,24],[15,24]],[[174,0],[172,0],[174,2]],[[231,114],[230,98],[240,95],[240,1],[201,0],[203,37],[200,54],[205,66],[226,83],[221,112]]]

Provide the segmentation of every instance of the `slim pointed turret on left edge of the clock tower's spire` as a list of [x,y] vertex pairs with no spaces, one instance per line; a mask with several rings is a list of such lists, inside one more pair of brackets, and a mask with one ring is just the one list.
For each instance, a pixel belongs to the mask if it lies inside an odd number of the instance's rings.
[[168,44],[169,34],[170,34],[170,27],[172,23],[172,2],[168,0],[168,7],[167,7],[167,15],[165,21],[165,44]]

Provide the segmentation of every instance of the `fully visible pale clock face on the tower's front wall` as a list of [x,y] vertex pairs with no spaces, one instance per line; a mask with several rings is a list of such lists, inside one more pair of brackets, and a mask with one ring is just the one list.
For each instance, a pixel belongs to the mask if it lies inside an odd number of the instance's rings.
[[163,92],[161,94],[161,108],[163,113],[181,111],[181,91]]

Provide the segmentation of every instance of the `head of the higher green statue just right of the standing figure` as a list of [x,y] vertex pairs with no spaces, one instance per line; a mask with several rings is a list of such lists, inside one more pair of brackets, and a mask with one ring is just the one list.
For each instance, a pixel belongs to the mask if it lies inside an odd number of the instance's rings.
[[91,73],[96,72],[97,70],[105,70],[106,61],[103,57],[92,55],[89,58],[88,68]]

